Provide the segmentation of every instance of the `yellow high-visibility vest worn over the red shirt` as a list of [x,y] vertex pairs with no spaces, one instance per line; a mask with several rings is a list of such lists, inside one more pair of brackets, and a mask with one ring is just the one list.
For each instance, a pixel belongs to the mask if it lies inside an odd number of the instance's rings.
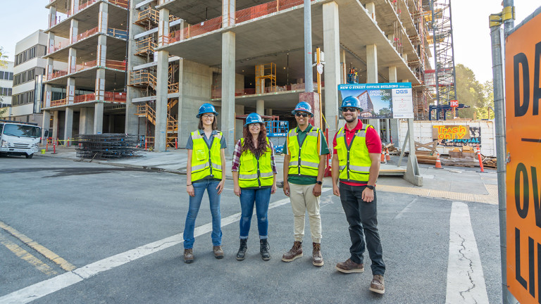
[[340,181],[368,183],[372,160],[366,146],[366,129],[372,125],[363,125],[363,129],[357,130],[352,142],[347,144],[344,127],[336,134],[336,152],[340,160]]

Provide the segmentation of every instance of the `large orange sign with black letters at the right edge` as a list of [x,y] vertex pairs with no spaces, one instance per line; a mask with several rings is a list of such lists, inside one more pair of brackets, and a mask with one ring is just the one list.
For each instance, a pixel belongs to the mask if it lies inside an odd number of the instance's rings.
[[505,42],[507,285],[520,303],[541,303],[540,28],[537,14]]

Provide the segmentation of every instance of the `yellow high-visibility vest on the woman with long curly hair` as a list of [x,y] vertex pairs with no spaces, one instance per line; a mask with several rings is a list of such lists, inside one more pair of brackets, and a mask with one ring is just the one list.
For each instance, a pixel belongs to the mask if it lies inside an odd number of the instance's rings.
[[[268,139],[267,139],[268,144]],[[244,145],[244,139],[240,139],[240,145]],[[267,148],[259,159],[254,153],[247,150],[240,155],[239,186],[241,188],[254,188],[273,185],[273,166],[271,165],[272,152]]]

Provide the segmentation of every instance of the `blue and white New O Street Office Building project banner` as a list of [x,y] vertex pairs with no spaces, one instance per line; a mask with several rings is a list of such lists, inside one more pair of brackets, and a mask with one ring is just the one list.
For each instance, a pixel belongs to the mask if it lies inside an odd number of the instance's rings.
[[361,118],[413,118],[411,82],[339,84],[338,91],[361,101]]

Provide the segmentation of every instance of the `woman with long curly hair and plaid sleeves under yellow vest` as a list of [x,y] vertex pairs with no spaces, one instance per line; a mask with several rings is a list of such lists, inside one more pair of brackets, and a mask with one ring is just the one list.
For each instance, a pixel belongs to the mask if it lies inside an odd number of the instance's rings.
[[251,215],[256,205],[259,230],[259,251],[263,260],[269,260],[268,250],[268,203],[270,194],[276,192],[276,165],[273,144],[267,139],[267,131],[261,116],[251,113],[246,118],[244,138],[237,141],[233,153],[233,183],[235,195],[240,197],[240,248],[237,260],[244,260],[250,231]]

